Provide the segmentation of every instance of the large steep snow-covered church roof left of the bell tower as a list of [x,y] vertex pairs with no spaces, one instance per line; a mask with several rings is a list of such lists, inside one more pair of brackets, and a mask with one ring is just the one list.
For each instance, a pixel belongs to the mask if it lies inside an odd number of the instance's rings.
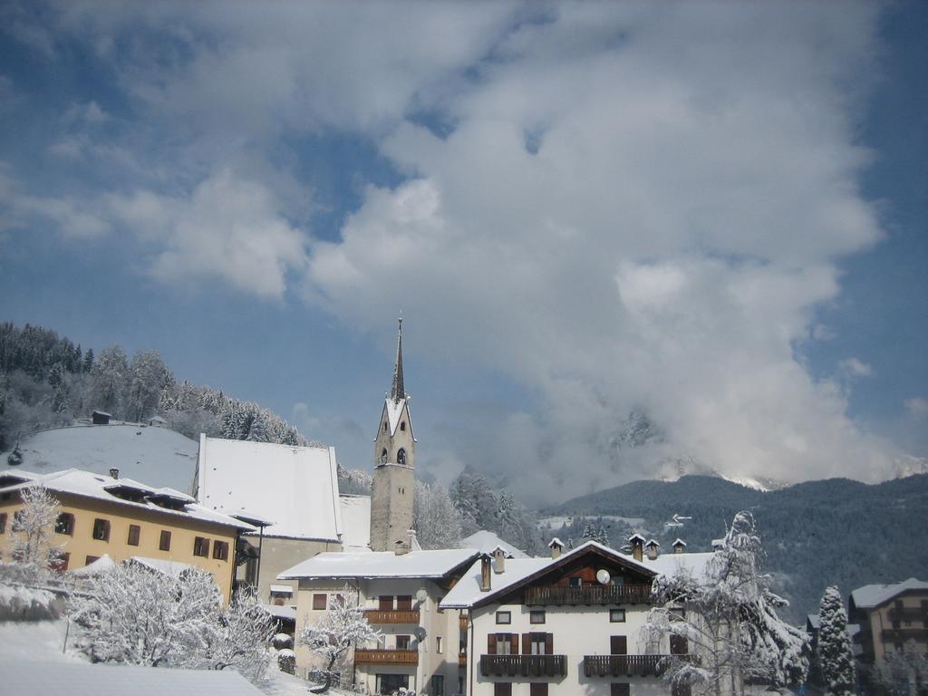
[[333,447],[297,447],[200,435],[197,496],[208,508],[273,520],[264,535],[338,541],[342,534]]

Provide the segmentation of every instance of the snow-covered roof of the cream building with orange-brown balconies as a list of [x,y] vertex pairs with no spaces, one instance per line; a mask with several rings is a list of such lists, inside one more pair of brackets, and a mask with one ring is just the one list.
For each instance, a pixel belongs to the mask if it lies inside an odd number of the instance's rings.
[[477,558],[475,548],[414,550],[397,556],[393,551],[336,553],[328,551],[297,563],[277,580],[328,578],[445,577]]

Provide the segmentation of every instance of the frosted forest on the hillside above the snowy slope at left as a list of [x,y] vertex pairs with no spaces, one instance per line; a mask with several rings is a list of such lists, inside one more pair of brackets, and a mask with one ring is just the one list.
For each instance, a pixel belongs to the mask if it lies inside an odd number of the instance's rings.
[[29,434],[107,411],[114,419],[155,415],[190,438],[200,432],[237,440],[308,445],[272,411],[211,387],[177,383],[161,354],[130,359],[119,345],[95,354],[53,330],[0,324],[0,451]]

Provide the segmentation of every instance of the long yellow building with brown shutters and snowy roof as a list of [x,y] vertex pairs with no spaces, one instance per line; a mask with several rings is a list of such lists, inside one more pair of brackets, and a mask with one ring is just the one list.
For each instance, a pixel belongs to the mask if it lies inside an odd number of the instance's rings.
[[0,474],[0,554],[10,560],[19,491],[45,485],[61,504],[54,543],[63,552],[58,569],[83,568],[104,554],[113,561],[173,561],[208,571],[226,601],[235,575],[236,542],[254,528],[199,505],[172,488],[69,469],[45,475]]

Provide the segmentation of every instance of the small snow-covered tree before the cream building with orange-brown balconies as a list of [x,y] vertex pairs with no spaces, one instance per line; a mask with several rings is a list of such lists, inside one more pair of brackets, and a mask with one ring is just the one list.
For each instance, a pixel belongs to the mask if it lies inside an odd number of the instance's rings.
[[328,690],[332,677],[341,674],[337,665],[342,666],[342,661],[352,648],[380,639],[380,631],[367,624],[364,610],[358,606],[354,597],[354,588],[345,585],[342,594],[329,603],[329,611],[316,624],[305,625],[300,631],[300,644],[309,646],[310,650],[326,660],[323,670],[326,682],[318,693]]

